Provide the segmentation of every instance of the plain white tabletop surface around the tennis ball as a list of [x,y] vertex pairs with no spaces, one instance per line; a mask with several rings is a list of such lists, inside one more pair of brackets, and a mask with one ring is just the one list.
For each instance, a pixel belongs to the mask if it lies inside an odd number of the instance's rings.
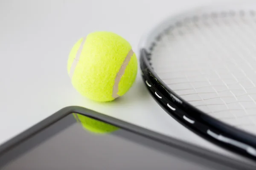
[[229,154],[168,116],[148,94],[140,71],[125,96],[96,103],[76,92],[66,69],[73,44],[92,31],[120,34],[138,55],[140,38],[149,28],[210,2],[216,0],[1,0],[0,143],[65,106],[79,105]]

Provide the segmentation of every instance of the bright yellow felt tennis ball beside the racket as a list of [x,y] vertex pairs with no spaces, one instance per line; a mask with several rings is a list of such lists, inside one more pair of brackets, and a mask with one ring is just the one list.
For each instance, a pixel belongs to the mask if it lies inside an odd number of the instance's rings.
[[129,42],[119,35],[94,32],[73,46],[67,70],[79,93],[106,102],[131,88],[137,76],[137,58]]

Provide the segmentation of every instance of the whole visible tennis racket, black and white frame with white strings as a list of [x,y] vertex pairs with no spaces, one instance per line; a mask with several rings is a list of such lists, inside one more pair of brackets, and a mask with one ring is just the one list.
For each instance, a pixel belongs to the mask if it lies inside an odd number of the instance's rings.
[[180,124],[256,160],[256,5],[199,8],[143,39],[148,91]]

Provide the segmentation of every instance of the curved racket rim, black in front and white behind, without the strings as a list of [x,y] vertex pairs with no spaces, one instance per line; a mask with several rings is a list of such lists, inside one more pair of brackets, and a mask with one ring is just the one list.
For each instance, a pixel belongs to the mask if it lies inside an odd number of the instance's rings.
[[[166,34],[169,34],[170,31],[177,27],[182,27],[186,22],[193,23],[198,20],[208,20],[209,18],[214,20],[214,18],[218,17],[244,17],[244,15],[254,17],[256,14],[255,9],[255,4],[240,4],[239,6],[230,6],[230,4],[228,4],[226,6],[201,7],[169,17],[149,31],[147,36],[145,36],[140,43],[140,67],[142,76],[146,87],[159,105],[169,113],[169,115],[195,133],[225,148],[236,150],[246,156],[253,156],[253,159],[256,157],[256,129],[255,131],[241,129],[195,107],[195,105],[187,101],[186,97],[182,97],[178,91],[172,89],[172,86],[167,85],[166,81],[155,71],[154,62],[157,61],[152,62],[152,60],[157,59],[154,50],[159,43],[162,43],[161,40]],[[157,50],[160,50],[160,48],[157,48]],[[221,140],[221,137],[226,137],[228,142],[227,140],[226,142]],[[232,142],[232,140],[235,142]],[[240,142],[240,145],[238,144],[239,146],[237,146],[236,142]]]

